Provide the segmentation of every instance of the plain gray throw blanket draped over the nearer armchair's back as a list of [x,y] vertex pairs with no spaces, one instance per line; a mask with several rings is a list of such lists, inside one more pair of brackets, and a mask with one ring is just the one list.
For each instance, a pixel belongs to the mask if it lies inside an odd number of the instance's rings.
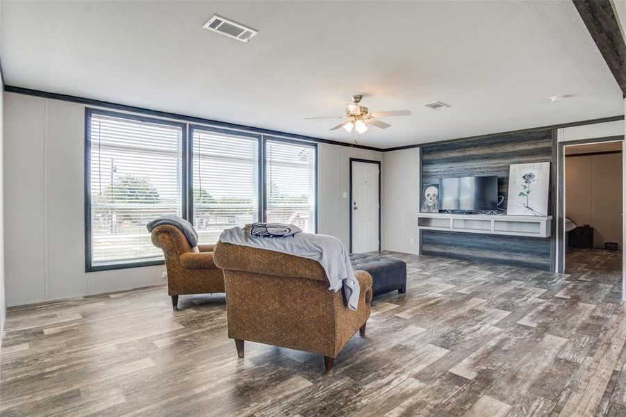
[[[361,293],[359,281],[356,281],[354,277],[348,251],[338,238],[300,232],[289,239],[267,239],[250,236],[246,240],[243,229],[233,227],[222,231],[220,240],[232,245],[257,247],[258,249],[314,259],[322,265],[324,272],[326,272],[330,283],[329,290],[339,291],[340,288],[343,288],[348,308],[356,310],[359,305],[359,294]],[[297,297],[298,295],[295,294],[294,296]]]

